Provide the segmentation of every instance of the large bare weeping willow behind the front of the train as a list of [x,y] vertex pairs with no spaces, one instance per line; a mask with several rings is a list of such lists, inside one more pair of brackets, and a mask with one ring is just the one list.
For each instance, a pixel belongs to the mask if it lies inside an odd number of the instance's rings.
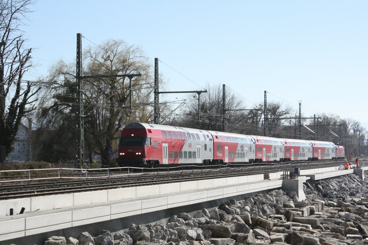
[[[83,75],[127,75],[141,73],[132,79],[132,112],[129,101],[129,79],[108,77],[84,79],[85,150],[101,155],[103,165],[109,165],[110,149],[117,149],[122,128],[131,122],[149,122],[152,118],[152,63],[139,46],[123,40],[107,40],[99,46],[87,47],[83,52]],[[43,142],[39,157],[47,161],[53,152],[60,159],[74,159],[76,80],[75,63],[60,61],[50,70],[48,85],[43,90],[42,110],[38,114]],[[70,130],[72,129],[72,130]],[[55,136],[57,140],[54,140]],[[69,144],[68,144],[69,142]]]

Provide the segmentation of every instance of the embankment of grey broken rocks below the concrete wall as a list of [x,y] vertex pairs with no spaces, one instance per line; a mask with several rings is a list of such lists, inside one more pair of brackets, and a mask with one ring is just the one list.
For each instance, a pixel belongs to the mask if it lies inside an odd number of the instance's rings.
[[172,216],[166,224],[131,224],[93,238],[50,237],[45,245],[360,245],[368,244],[368,188],[354,174],[305,183],[307,197],[274,190],[212,210]]

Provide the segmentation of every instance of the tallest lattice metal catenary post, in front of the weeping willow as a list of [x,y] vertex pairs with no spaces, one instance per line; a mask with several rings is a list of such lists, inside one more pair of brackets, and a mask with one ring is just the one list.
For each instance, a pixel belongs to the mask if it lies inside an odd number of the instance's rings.
[[75,168],[82,168],[84,163],[84,108],[82,78],[82,34],[77,33],[77,163]]

